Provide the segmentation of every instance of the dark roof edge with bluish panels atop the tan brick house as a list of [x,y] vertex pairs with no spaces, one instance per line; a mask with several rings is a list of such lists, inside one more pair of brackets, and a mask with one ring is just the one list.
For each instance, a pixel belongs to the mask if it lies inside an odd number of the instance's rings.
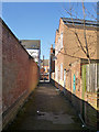
[[[75,25],[82,25],[84,24],[84,20],[81,19],[72,19],[72,18],[62,18],[63,22],[65,24],[75,24]],[[85,20],[85,24],[87,26],[99,26],[99,23],[97,21],[89,21],[89,20]]]

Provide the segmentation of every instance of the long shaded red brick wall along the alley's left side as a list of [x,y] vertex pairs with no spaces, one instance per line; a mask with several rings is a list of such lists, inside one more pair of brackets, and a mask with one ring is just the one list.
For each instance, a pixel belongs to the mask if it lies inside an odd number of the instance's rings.
[[2,112],[3,125],[6,125],[10,120],[9,109],[11,111],[15,108],[12,106],[18,106],[18,109],[20,100],[22,105],[36,87],[38,67],[4,23],[2,24]]

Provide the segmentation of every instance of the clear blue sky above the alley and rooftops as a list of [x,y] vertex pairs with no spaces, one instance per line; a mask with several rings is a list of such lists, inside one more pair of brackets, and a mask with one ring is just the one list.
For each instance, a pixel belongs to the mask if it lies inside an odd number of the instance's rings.
[[[86,3],[89,12],[92,6]],[[68,2],[3,2],[2,19],[19,40],[41,40],[41,58],[50,58],[59,19],[69,16],[64,10],[69,7]],[[81,3],[75,3],[74,9],[82,16],[80,8]]]

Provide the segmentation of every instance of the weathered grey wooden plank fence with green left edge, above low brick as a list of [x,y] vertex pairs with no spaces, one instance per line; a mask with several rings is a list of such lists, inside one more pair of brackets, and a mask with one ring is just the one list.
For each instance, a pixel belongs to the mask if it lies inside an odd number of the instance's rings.
[[99,64],[82,66],[82,89],[88,92],[97,92],[99,88]]

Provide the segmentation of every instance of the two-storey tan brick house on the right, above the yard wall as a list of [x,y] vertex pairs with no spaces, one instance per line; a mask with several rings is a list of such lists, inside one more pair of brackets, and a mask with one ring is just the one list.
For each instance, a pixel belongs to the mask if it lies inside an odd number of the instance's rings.
[[[62,86],[64,86],[64,70],[68,70],[73,62],[80,58],[87,58],[79,44],[80,41],[82,46],[85,46],[84,25],[81,20],[74,20],[74,22],[75,26],[70,19],[61,18],[59,28],[56,30],[55,56],[57,59],[55,61],[55,80]],[[86,34],[89,44],[89,53],[91,59],[98,59],[97,25],[91,26],[91,23],[88,22],[87,25],[89,25],[86,26]],[[76,33],[78,37],[76,36]]]

